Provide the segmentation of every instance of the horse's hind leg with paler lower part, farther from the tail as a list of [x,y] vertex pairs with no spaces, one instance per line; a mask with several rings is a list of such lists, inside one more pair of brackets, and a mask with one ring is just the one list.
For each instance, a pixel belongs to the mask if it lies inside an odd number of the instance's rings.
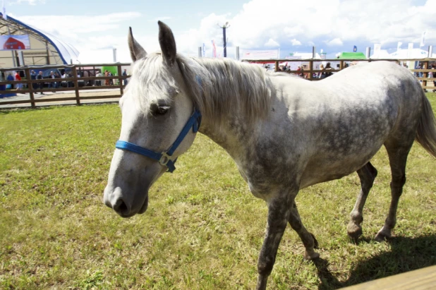
[[357,241],[358,237],[362,235],[362,222],[363,222],[363,206],[365,206],[366,198],[370,189],[373,187],[375,177],[377,176],[377,169],[373,164],[368,162],[361,169],[358,169],[357,174],[361,179],[361,192],[359,193],[356,204],[350,213],[350,222],[346,227],[346,231],[353,241]]

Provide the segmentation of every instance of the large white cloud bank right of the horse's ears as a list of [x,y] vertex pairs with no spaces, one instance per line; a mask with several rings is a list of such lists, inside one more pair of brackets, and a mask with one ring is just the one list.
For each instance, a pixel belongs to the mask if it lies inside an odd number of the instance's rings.
[[[262,49],[272,39],[280,43],[282,49],[286,43],[289,46],[304,43],[339,52],[343,45],[372,47],[374,43],[419,42],[425,29],[428,31],[426,43],[436,44],[436,1],[428,0],[421,6],[411,3],[410,0],[396,0],[392,6],[390,0],[377,0],[363,6],[360,0],[253,0],[232,17],[210,14],[202,19],[200,28],[189,30],[183,37],[175,37],[178,47],[195,53],[196,47],[203,42],[207,47],[212,39],[222,43],[221,30],[217,29],[216,23],[228,20],[231,24],[227,30],[229,45],[241,49]],[[265,11],[271,7],[298,13],[268,17]]]

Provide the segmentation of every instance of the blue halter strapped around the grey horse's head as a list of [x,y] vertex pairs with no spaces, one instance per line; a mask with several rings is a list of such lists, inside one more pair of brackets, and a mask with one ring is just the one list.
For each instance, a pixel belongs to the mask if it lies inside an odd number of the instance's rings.
[[155,159],[156,161],[159,161],[160,164],[168,167],[168,171],[172,173],[174,170],[176,170],[176,167],[174,167],[174,163],[176,163],[177,158],[171,159],[171,156],[173,155],[174,151],[176,151],[178,145],[182,143],[183,139],[189,133],[191,127],[193,128],[194,133],[198,132],[198,128],[200,128],[200,123],[201,123],[201,113],[200,111],[198,111],[198,109],[195,108],[192,116],[190,116],[190,118],[186,122],[186,125],[183,127],[181,133],[178,134],[178,137],[174,141],[173,145],[169,147],[169,150],[166,150],[162,153],[157,153],[147,148],[140,147],[133,143],[129,143],[121,140],[116,141],[115,147],[118,149],[135,152],[140,155],[150,157],[151,159]]

